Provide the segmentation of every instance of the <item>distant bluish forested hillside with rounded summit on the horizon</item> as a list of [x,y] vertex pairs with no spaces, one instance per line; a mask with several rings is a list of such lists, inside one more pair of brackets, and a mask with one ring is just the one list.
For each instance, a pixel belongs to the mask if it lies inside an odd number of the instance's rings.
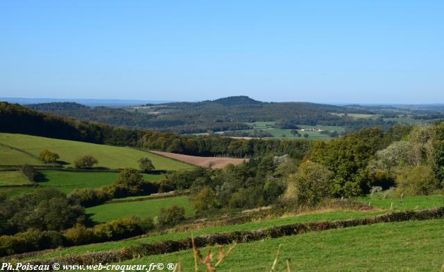
[[138,129],[157,129],[177,134],[248,129],[250,127],[245,123],[257,121],[285,121],[305,125],[351,125],[357,122],[338,114],[371,113],[366,109],[355,107],[308,102],[261,102],[248,96],[123,108],[89,108],[67,102],[26,105],[26,107],[85,121]]

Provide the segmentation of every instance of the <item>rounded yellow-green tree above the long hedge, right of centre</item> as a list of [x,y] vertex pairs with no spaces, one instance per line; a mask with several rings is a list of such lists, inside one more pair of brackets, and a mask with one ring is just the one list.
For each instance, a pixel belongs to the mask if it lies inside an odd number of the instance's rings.
[[289,176],[286,197],[296,199],[298,206],[316,206],[333,196],[332,172],[311,161],[301,163],[297,174]]

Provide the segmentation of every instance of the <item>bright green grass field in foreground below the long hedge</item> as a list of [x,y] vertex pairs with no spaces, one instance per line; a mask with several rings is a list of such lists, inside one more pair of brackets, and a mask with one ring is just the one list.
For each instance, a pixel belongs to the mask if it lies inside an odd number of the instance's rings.
[[[270,271],[281,244],[275,271],[287,271],[286,260],[291,271],[441,271],[443,226],[444,219],[383,223],[238,244],[217,271]],[[200,252],[207,253],[207,248]],[[191,250],[120,264],[178,260],[182,271],[194,269]],[[203,264],[199,271],[205,271]]]

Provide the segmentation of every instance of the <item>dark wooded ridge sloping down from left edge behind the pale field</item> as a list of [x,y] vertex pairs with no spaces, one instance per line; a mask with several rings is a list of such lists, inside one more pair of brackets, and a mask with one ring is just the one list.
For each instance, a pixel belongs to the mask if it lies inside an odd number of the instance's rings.
[[243,140],[221,136],[180,136],[153,130],[126,129],[33,111],[0,102],[0,132],[29,134],[88,143],[130,146],[195,156],[261,156],[268,152],[302,157],[309,140]]

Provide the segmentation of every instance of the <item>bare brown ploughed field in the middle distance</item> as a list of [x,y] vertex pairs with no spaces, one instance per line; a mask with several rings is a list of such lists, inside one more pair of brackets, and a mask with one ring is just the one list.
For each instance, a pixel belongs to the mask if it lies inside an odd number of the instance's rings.
[[162,152],[162,151],[150,151],[154,154],[160,156],[166,156],[167,158],[173,158],[178,161],[183,161],[184,163],[189,163],[192,165],[198,165],[202,167],[211,167],[212,169],[219,169],[225,167],[228,164],[238,165],[244,161],[248,161],[248,158],[223,158],[223,157],[200,157],[200,156],[189,156],[176,153]]

